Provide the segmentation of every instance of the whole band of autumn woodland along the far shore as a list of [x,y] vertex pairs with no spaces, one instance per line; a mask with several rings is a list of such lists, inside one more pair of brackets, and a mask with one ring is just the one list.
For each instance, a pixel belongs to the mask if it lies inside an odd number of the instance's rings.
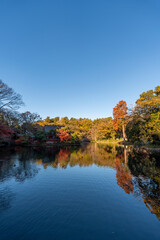
[[[110,141],[131,144],[160,144],[160,86],[140,94],[133,109],[119,101],[113,118],[47,117],[20,113],[21,95],[0,80],[0,144],[40,145],[79,144],[84,141]],[[44,126],[56,129],[44,131]]]

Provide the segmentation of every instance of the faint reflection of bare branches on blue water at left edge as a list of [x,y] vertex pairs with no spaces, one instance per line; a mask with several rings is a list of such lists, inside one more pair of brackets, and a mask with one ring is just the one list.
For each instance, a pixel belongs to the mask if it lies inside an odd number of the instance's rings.
[[0,214],[2,211],[11,207],[11,201],[14,199],[14,197],[15,195],[8,187],[0,190]]

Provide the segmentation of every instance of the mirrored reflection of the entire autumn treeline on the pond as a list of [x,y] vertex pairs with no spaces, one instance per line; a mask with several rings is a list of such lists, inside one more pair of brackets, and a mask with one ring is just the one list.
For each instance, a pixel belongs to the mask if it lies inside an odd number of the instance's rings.
[[[126,194],[144,201],[160,220],[160,156],[115,145],[89,144],[63,148],[14,148],[0,152],[0,183],[8,179],[24,182],[35,177],[40,168],[87,167],[96,165],[115,169],[116,180]],[[11,205],[9,188],[0,192],[0,210]]]

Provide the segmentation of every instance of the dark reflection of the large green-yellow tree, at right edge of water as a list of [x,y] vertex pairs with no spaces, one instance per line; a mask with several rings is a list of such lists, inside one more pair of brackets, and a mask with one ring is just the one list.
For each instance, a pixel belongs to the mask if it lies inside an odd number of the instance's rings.
[[141,196],[151,213],[160,220],[160,156],[133,150],[129,154],[129,168],[135,176],[135,196]]

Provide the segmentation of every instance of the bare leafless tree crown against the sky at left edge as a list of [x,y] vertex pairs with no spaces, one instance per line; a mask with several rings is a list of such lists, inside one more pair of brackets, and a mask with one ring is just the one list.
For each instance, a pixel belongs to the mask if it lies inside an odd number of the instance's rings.
[[21,95],[0,80],[0,111],[16,110],[23,104]]

